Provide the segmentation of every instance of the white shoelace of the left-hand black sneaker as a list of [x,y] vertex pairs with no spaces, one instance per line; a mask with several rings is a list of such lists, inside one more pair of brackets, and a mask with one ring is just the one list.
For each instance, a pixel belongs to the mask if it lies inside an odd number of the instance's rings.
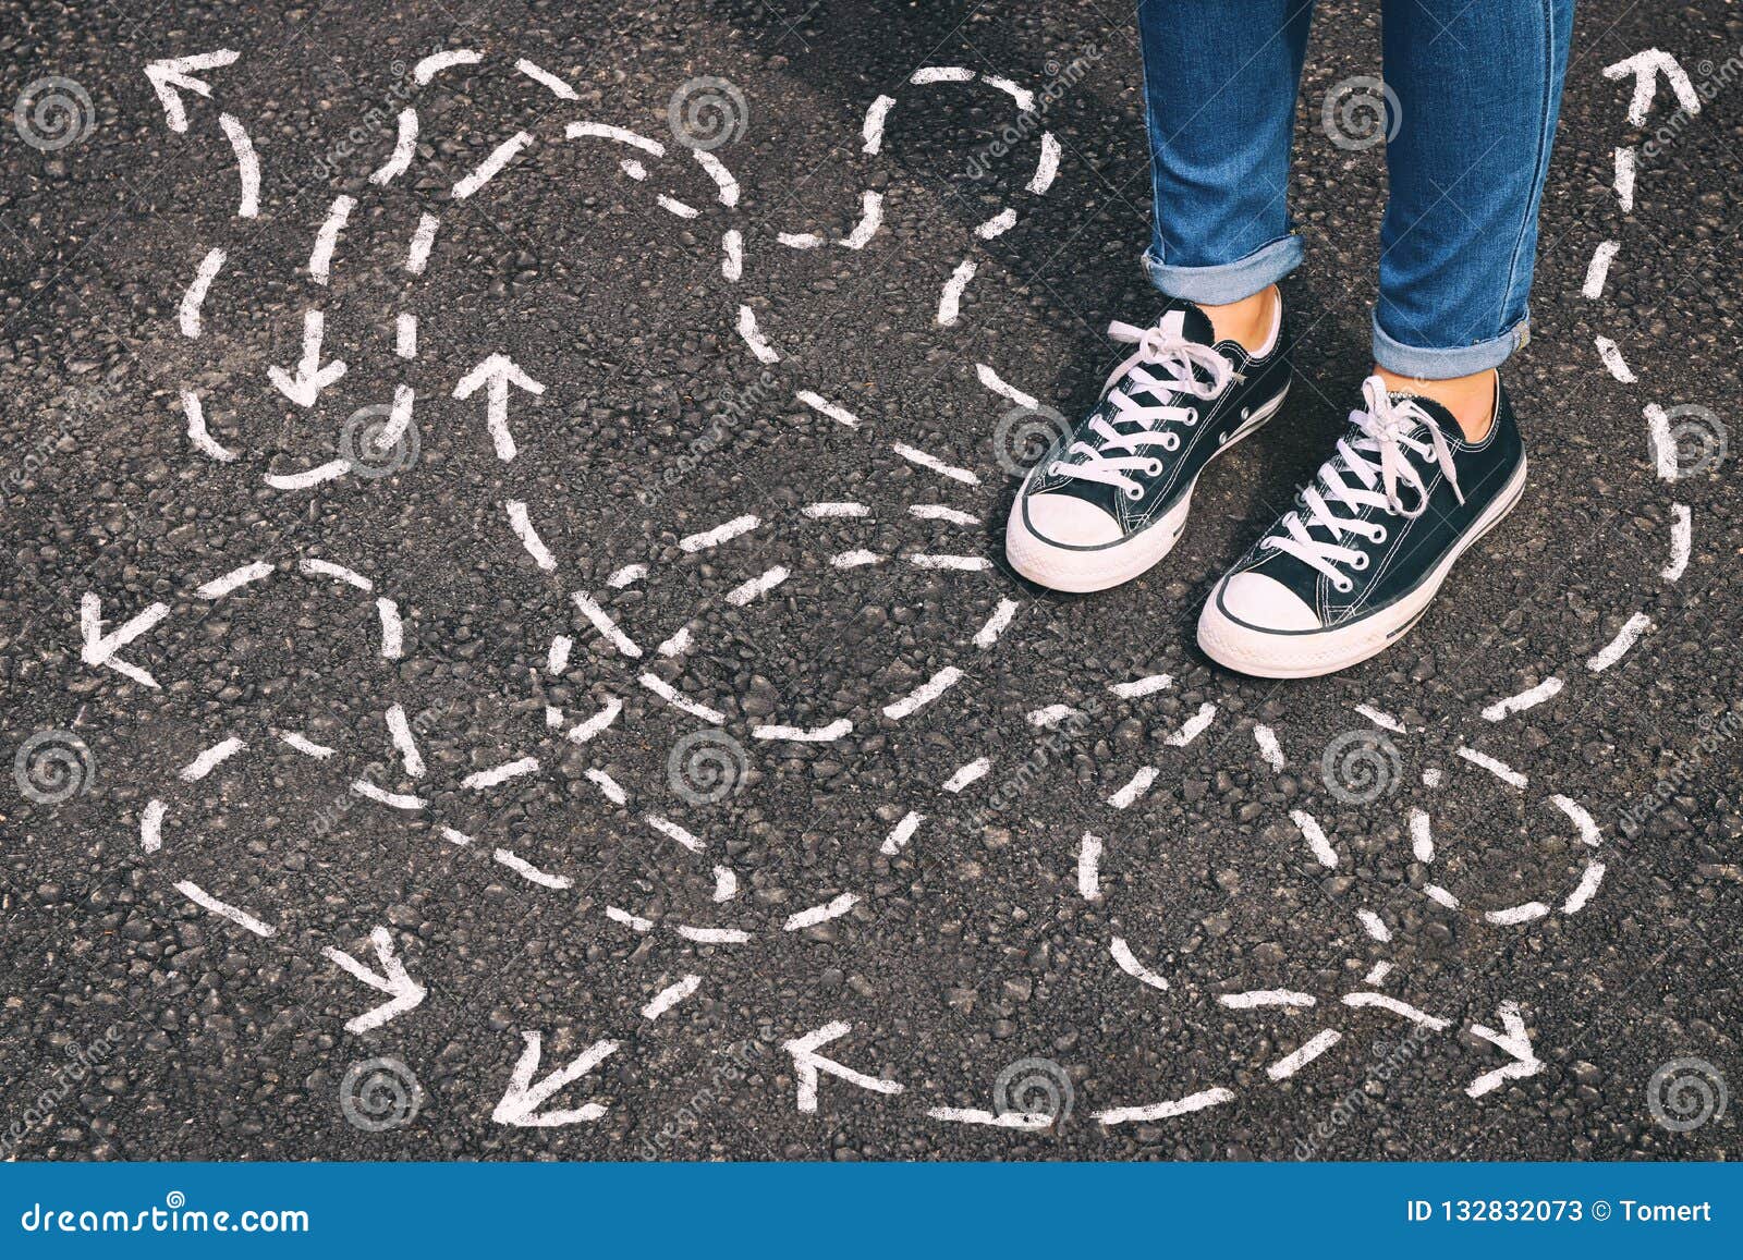
[[[1180,310],[1170,310],[1156,328],[1136,328],[1117,319],[1109,324],[1109,336],[1138,347],[1114,368],[1102,387],[1102,397],[1114,404],[1114,415],[1089,422],[1095,443],[1077,439],[1067,450],[1067,455],[1082,455],[1082,464],[1055,460],[1048,467],[1049,476],[1098,481],[1133,500],[1143,497],[1143,484],[1129,474],[1163,474],[1163,462],[1147,448],[1161,446],[1170,453],[1180,450],[1180,434],[1156,429],[1156,423],[1196,425],[1197,408],[1180,406],[1177,399],[1213,399],[1229,382],[1239,380],[1239,373],[1211,347],[1189,342],[1182,335],[1183,326],[1185,312]],[[1210,380],[1199,380],[1194,366],[1204,368]],[[1147,394],[1150,403],[1140,403],[1138,394]]]

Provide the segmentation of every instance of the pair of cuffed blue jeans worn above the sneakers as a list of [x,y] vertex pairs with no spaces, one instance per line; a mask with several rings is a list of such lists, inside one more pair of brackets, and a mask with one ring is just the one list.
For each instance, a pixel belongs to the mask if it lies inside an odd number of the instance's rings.
[[[1288,167],[1311,21],[1312,0],[1138,5],[1156,193],[1143,265],[1163,293],[1238,301],[1300,265]],[[1311,103],[1325,159],[1386,141],[1382,368],[1445,380],[1525,343],[1572,24],[1574,0],[1386,0],[1386,82],[1346,78]],[[1342,195],[1367,195],[1367,176]]]

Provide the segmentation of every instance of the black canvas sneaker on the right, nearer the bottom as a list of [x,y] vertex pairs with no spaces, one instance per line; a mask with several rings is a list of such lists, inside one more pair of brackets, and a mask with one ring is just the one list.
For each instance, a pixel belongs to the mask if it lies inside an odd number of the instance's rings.
[[1351,430],[1295,509],[1217,584],[1199,647],[1243,674],[1311,678],[1403,638],[1448,570],[1513,511],[1525,448],[1495,376],[1495,420],[1468,443],[1440,403],[1361,385]]

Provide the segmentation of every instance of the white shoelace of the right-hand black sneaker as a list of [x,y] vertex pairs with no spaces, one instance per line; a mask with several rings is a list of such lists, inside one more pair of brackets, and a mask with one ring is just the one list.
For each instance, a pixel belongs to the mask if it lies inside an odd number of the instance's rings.
[[[1367,406],[1349,413],[1349,422],[1360,434],[1340,437],[1337,453],[1319,465],[1319,476],[1302,490],[1307,519],[1302,519],[1299,511],[1290,512],[1283,518],[1281,532],[1260,544],[1286,551],[1302,563],[1312,565],[1332,579],[1332,586],[1342,594],[1349,593],[1354,580],[1340,570],[1340,565],[1347,565],[1358,573],[1368,566],[1367,552],[1342,545],[1344,535],[1356,533],[1368,542],[1386,542],[1384,525],[1353,519],[1363,507],[1380,507],[1408,521],[1428,511],[1428,486],[1410,455],[1421,460],[1433,458],[1447,474],[1452,493],[1459,497],[1461,504],[1464,502],[1459,474],[1452,464],[1452,450],[1447,446],[1434,417],[1410,399],[1394,403],[1386,392],[1386,382],[1379,376],[1368,376],[1361,382],[1361,401]],[[1346,472],[1361,484],[1346,481]],[[1414,507],[1403,505],[1398,497],[1400,484],[1415,491]],[[1347,509],[1349,516],[1335,516],[1332,511],[1335,504]],[[1319,542],[1307,533],[1309,525],[1321,526],[1332,539]]]

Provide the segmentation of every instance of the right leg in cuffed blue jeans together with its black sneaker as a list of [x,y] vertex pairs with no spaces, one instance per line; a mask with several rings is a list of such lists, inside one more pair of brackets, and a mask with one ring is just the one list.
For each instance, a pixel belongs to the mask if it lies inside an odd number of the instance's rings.
[[1379,368],[1295,507],[1211,589],[1211,659],[1304,678],[1384,652],[1520,500],[1497,368],[1525,342],[1570,21],[1572,0],[1387,0]]

